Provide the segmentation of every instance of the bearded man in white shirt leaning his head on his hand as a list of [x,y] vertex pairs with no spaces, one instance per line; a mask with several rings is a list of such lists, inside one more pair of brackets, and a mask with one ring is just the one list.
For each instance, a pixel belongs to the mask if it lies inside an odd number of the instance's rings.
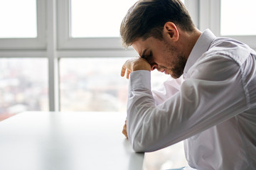
[[[256,169],[256,52],[201,33],[178,0],[138,1],[120,33],[139,54],[121,73],[129,78],[127,135],[135,152],[184,140],[193,169]],[[152,94],[154,69],[174,80]]]

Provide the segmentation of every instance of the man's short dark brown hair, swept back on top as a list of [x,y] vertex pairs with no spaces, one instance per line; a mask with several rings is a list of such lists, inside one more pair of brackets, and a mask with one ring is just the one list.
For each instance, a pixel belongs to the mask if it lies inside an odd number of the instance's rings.
[[179,0],[140,0],[124,17],[120,35],[125,47],[138,38],[146,40],[153,36],[162,40],[166,22],[173,22],[182,30],[192,32],[195,27],[186,7]]

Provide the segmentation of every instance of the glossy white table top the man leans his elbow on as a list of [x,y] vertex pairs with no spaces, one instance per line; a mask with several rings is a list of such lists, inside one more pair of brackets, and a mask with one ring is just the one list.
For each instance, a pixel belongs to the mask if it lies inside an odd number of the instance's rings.
[[1,170],[137,170],[124,113],[24,112],[0,122]]

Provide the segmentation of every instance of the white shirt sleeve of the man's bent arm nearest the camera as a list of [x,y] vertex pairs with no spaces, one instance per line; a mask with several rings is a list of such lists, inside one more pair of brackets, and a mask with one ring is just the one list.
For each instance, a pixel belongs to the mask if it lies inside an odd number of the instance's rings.
[[156,105],[150,72],[130,74],[127,132],[135,152],[151,152],[203,132],[247,109],[239,65],[225,56],[204,57],[181,90]]

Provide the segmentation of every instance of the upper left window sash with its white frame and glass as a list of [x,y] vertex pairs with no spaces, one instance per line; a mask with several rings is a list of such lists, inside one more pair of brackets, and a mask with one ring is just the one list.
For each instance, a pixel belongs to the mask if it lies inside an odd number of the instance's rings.
[[45,0],[0,0],[0,50],[46,47]]

